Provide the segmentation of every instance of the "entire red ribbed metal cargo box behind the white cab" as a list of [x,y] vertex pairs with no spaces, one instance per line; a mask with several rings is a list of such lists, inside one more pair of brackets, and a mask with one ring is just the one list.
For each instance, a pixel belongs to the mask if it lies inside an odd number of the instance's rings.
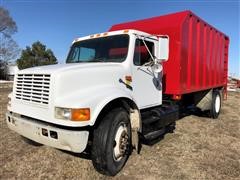
[[117,24],[110,31],[123,29],[169,36],[169,60],[163,64],[165,94],[226,86],[228,37],[191,11]]

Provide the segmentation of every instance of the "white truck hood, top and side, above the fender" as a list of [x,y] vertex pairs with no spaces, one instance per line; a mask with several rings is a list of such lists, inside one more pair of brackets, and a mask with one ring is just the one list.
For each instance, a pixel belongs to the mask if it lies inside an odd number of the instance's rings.
[[117,87],[120,84],[119,79],[123,79],[128,73],[122,63],[94,62],[39,66],[19,71],[18,74],[50,75],[51,97],[59,99],[103,86]]

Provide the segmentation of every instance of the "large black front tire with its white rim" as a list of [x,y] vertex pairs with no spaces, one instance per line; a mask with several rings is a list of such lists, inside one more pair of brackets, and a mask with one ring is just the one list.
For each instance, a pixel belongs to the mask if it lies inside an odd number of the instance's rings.
[[106,114],[93,132],[92,163],[101,174],[114,176],[123,168],[130,153],[129,114],[117,108]]

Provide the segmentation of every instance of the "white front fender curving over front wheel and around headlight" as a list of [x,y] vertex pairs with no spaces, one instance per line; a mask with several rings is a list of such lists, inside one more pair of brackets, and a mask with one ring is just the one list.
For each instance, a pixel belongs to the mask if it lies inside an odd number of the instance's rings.
[[[90,121],[79,122],[79,126],[93,126],[101,110],[112,100],[128,98],[133,100],[132,92],[116,87],[95,87],[75,91],[56,99],[56,106],[66,108],[90,108]],[[134,100],[133,100],[134,101]]]

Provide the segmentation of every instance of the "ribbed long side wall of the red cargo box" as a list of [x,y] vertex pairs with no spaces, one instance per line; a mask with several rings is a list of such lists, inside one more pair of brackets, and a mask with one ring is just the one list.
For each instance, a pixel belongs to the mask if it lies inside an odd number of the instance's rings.
[[224,87],[228,56],[224,60],[223,55],[228,53],[228,37],[192,13],[183,22],[181,34],[179,94]]

